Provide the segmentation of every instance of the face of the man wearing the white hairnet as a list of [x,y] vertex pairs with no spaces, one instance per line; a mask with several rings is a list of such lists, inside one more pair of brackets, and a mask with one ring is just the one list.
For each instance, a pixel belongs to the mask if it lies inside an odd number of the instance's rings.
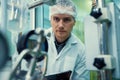
[[68,14],[55,14],[51,16],[51,25],[55,37],[59,42],[66,40],[75,24],[75,20]]

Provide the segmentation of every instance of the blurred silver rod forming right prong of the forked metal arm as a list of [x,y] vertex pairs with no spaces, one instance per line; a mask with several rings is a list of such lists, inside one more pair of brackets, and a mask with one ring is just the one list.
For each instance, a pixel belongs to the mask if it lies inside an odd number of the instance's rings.
[[41,44],[45,38],[45,34],[44,34],[44,31],[41,30],[40,32],[37,33],[38,34],[38,39],[37,39],[37,45],[36,47],[30,52],[30,54],[34,54],[33,56],[33,59],[31,60],[31,64],[30,64],[30,67],[29,67],[29,70],[27,72],[27,75],[26,75],[26,80],[32,80],[32,76],[33,76],[33,73],[35,71],[35,67],[36,67],[36,62],[37,62],[37,56],[39,54],[42,54],[41,52],[39,53],[38,51],[41,51],[40,50],[40,47],[41,47]]

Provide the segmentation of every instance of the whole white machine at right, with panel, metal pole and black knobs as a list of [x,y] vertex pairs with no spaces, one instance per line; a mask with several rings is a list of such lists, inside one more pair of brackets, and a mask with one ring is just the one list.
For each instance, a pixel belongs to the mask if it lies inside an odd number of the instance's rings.
[[[114,34],[117,28],[116,24],[118,24],[115,20],[119,21],[116,17],[119,10],[114,2],[105,4],[104,0],[93,1],[96,4],[93,5],[94,10],[92,8],[91,13],[95,15],[87,16],[85,19],[88,69],[98,72],[97,80],[112,80],[113,77],[119,79],[120,67],[118,66],[118,56],[116,56],[119,55],[116,50],[119,45],[115,43],[118,35]],[[98,10],[98,13],[95,10]]]

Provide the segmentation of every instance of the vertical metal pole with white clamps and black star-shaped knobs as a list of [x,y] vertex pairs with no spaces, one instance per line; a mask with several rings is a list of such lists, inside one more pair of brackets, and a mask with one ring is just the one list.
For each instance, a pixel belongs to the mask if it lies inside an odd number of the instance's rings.
[[108,13],[108,10],[104,7],[103,0],[94,0],[96,3],[93,6],[91,11],[91,16],[93,16],[96,21],[98,28],[98,40],[99,40],[99,50],[100,56],[96,57],[94,60],[94,66],[99,70],[98,80],[112,80],[112,68],[109,69],[106,62],[108,54],[108,28],[110,26],[110,17],[109,15],[104,15]]

